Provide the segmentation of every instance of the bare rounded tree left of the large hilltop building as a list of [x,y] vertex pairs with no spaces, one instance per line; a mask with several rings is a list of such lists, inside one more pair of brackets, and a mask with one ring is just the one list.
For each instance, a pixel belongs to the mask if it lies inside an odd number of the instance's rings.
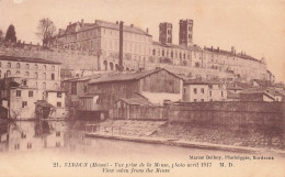
[[36,35],[43,41],[43,46],[47,45],[55,31],[56,26],[52,20],[48,18],[39,20]]

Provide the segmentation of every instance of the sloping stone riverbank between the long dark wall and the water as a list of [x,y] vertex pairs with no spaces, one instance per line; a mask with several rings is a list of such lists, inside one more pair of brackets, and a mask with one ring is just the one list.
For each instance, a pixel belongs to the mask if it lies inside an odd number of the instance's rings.
[[[285,155],[283,135],[254,128],[169,124],[132,120],[112,120],[98,125],[101,125],[100,131],[86,132],[86,135],[192,148],[249,153],[274,152]],[[144,131],[148,133],[142,133]]]

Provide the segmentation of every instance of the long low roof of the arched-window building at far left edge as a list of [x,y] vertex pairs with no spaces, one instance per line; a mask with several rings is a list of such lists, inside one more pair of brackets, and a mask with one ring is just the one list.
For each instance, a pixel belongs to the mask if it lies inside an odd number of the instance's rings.
[[33,58],[33,57],[20,57],[20,56],[7,56],[0,55],[0,60],[12,60],[12,62],[26,62],[26,63],[42,63],[42,64],[55,64],[59,65],[58,62],[52,62],[43,58]]

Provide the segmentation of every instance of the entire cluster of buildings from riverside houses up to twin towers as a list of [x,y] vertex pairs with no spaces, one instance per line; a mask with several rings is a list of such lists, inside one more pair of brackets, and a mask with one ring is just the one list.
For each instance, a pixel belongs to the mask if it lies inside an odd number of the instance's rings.
[[284,101],[263,58],[235,47],[202,48],[193,44],[193,21],[179,24],[178,45],[167,22],[159,25],[159,42],[148,29],[123,22],[70,23],[49,41],[50,48],[88,51],[98,73],[61,80],[60,60],[1,55],[1,106],[10,118],[29,119],[50,111],[48,118],[67,117],[71,108],[90,115],[170,102]]

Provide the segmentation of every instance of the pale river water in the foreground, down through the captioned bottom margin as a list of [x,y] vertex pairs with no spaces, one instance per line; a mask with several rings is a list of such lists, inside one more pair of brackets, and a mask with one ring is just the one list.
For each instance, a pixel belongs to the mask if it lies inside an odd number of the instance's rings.
[[[84,136],[87,121],[16,121],[0,126],[0,177],[276,176],[278,153],[235,153]],[[256,157],[274,159],[254,159]]]

